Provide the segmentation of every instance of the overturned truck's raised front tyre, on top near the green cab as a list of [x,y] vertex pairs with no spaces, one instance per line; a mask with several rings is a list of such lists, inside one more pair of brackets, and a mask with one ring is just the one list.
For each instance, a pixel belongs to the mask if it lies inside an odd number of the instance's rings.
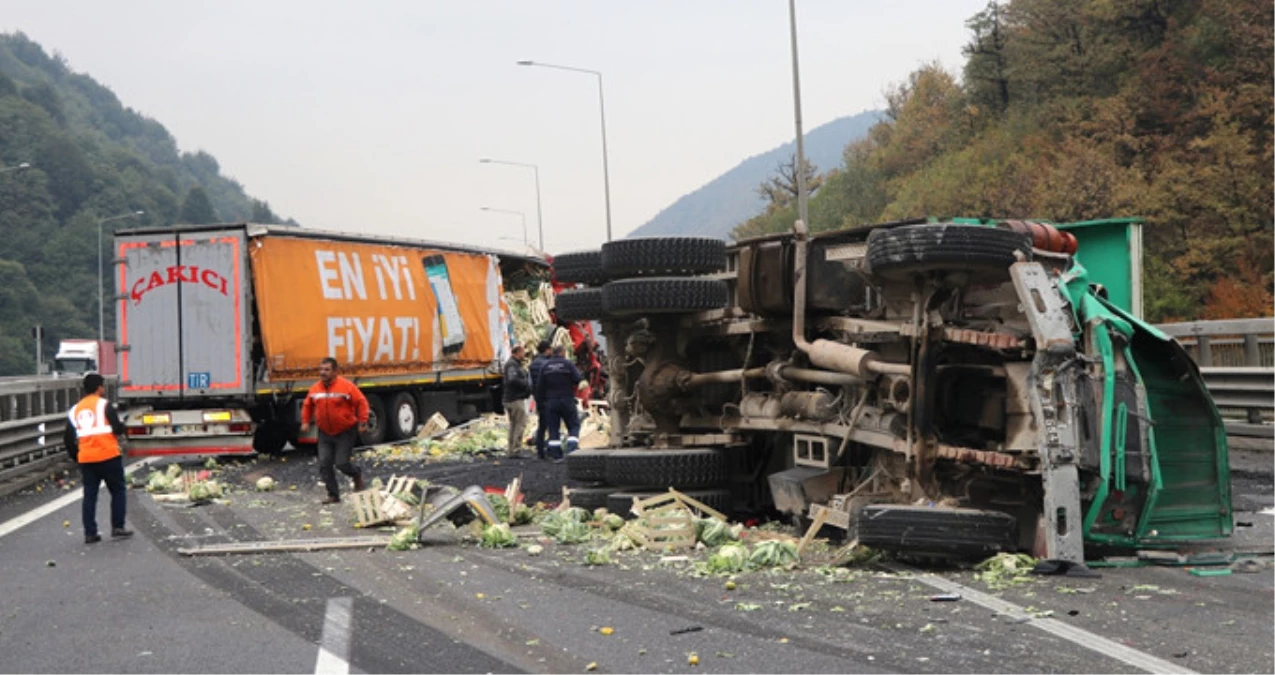
[[1031,240],[1023,234],[977,225],[910,225],[868,235],[867,262],[873,274],[905,279],[927,272],[1003,274],[1017,254],[1031,259]]

